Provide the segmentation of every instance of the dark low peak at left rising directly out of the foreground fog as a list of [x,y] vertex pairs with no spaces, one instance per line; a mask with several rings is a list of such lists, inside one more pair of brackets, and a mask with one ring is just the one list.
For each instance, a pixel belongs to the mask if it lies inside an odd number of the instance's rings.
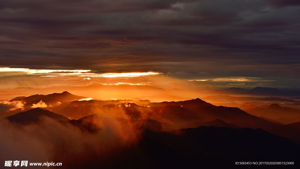
[[8,116],[6,119],[11,122],[19,123],[19,124],[31,124],[31,123],[39,123],[42,122],[41,118],[48,118],[52,121],[68,121],[69,118],[51,112],[45,108],[35,108],[30,109],[26,112],[20,112],[18,114]]

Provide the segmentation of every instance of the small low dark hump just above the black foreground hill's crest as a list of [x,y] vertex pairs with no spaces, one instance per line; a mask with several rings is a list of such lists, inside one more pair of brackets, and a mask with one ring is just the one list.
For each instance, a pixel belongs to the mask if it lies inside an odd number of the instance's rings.
[[191,124],[187,124],[182,126],[181,128],[197,128],[200,126],[216,126],[216,127],[229,127],[229,128],[241,128],[236,124],[229,124],[220,119],[215,119],[214,121],[207,122],[194,122]]

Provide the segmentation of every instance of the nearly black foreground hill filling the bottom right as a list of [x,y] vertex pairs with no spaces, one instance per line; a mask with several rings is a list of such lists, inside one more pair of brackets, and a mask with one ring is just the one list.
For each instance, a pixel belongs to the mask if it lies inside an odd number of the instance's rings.
[[[146,130],[140,147],[150,158],[153,168],[199,168],[201,166],[231,169],[236,167],[235,161],[297,161],[300,155],[300,145],[262,129],[214,126],[180,129],[173,132]],[[259,166],[255,167],[259,168]],[[277,167],[272,166],[272,168]],[[249,168],[253,168],[253,165]]]

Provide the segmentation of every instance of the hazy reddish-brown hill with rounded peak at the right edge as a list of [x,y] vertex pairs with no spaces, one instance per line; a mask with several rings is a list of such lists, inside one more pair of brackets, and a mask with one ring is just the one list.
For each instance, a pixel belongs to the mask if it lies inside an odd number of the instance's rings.
[[265,108],[253,108],[246,110],[247,113],[251,115],[256,115],[258,117],[263,116],[266,118],[291,118],[291,117],[297,117],[300,116],[300,109],[293,109],[290,107],[281,107],[278,104],[271,104],[268,107]]

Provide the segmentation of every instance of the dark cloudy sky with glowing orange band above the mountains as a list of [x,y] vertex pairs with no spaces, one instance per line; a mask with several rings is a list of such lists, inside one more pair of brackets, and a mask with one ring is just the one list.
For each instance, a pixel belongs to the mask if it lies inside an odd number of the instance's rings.
[[299,16],[298,0],[1,0],[0,88],[300,88]]

